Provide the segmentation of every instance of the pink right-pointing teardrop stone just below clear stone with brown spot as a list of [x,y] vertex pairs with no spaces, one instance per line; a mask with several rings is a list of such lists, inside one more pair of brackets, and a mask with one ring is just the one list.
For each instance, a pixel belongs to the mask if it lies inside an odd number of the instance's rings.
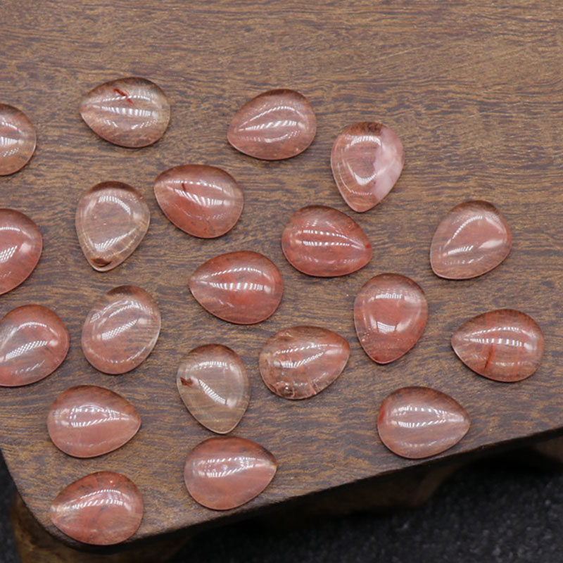
[[200,505],[236,508],[258,496],[274,479],[276,458],[261,445],[233,436],[209,438],[186,458],[184,481]]

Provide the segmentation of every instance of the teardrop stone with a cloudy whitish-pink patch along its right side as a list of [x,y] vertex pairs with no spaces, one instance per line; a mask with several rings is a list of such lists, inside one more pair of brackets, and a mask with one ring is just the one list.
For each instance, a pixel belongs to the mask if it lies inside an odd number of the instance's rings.
[[381,123],[360,122],[336,137],[330,163],[344,201],[361,213],[391,191],[403,170],[405,154],[392,129]]

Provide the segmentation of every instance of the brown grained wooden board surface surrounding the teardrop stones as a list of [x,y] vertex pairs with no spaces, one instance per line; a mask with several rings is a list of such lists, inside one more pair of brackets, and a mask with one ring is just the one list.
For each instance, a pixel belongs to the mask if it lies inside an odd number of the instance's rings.
[[[100,469],[137,483],[146,512],[135,538],[146,538],[424,464],[396,457],[377,436],[379,403],[399,386],[438,388],[469,412],[469,434],[442,457],[563,427],[559,0],[510,7],[484,0],[4,0],[0,15],[0,101],[24,110],[38,136],[30,164],[0,178],[0,205],[30,215],[45,246],[30,279],[0,297],[0,312],[41,303],[61,315],[71,335],[68,358],[51,377],[0,389],[0,439],[18,490],[50,531],[58,533],[48,517],[56,493]],[[154,146],[108,144],[78,114],[89,89],[127,75],[147,77],[169,96],[170,127]],[[243,102],[275,87],[308,97],[318,131],[303,154],[267,163],[234,151],[226,133]],[[362,215],[343,203],[329,166],[336,134],[358,120],[392,127],[406,159],[391,194]],[[245,208],[226,236],[194,239],[160,212],[153,180],[184,163],[223,167],[241,184]],[[74,228],[81,194],[103,180],[132,184],[151,208],[144,241],[107,273],[89,267]],[[432,234],[441,217],[468,198],[498,205],[512,227],[512,253],[483,277],[438,279],[429,266]],[[293,210],[310,203],[333,205],[361,224],[374,246],[367,267],[313,279],[286,262],[281,231]],[[203,260],[239,249],[265,253],[285,281],[281,307],[255,326],[212,317],[187,286]],[[381,272],[415,279],[430,311],[417,346],[384,367],[367,358],[353,328],[355,293]],[[120,284],[153,294],[163,329],[146,362],[112,377],[84,359],[80,331],[94,300]],[[450,348],[462,322],[502,307],[523,310],[545,332],[543,364],[517,384],[479,377]],[[258,373],[262,343],[293,324],[338,331],[352,347],[341,377],[301,402],[274,396]],[[186,412],[175,371],[191,348],[213,342],[236,350],[251,377],[250,407],[234,435],[258,441],[279,460],[266,491],[229,513],[197,505],[182,479],[187,453],[210,432]],[[57,450],[46,413],[56,395],[75,384],[106,386],[131,400],[143,417],[139,434],[91,460]]]

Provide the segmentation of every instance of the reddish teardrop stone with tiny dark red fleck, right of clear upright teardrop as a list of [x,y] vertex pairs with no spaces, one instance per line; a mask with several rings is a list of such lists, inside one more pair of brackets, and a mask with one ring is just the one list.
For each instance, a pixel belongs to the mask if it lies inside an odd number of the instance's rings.
[[230,174],[201,164],[165,170],[156,178],[154,194],[176,227],[202,239],[230,231],[241,216],[244,200]]

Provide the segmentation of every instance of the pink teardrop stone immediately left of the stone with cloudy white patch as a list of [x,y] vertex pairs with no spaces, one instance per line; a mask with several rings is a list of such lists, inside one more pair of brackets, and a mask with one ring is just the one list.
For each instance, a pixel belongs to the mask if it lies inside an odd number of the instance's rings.
[[278,89],[246,102],[234,115],[227,139],[241,153],[280,160],[305,151],[316,132],[308,99],[295,90]]

